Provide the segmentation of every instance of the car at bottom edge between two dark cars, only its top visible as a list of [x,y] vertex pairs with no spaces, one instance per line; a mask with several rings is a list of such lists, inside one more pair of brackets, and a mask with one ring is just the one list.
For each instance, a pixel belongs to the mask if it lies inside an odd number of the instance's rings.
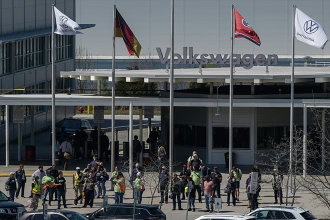
[[[63,209],[48,209],[47,217],[48,220],[88,220],[88,218],[78,212]],[[20,220],[43,220],[42,209],[26,211]]]

